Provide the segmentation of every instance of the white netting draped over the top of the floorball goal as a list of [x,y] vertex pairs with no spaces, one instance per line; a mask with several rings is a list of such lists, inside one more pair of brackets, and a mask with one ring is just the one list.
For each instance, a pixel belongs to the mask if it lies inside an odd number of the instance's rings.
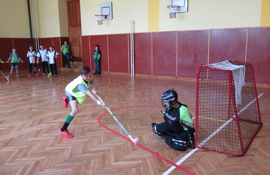
[[205,65],[210,68],[218,68],[224,70],[231,70],[233,79],[234,79],[234,86],[235,86],[235,102],[236,102],[236,109],[238,104],[241,104],[242,101],[242,87],[245,85],[245,70],[246,67],[244,65],[234,65],[229,61],[223,61],[219,63],[214,63],[210,65]]

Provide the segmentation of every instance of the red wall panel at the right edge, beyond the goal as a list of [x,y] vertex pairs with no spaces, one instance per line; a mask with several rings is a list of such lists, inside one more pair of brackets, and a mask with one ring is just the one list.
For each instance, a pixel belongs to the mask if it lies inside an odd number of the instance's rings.
[[255,81],[270,84],[270,28],[248,29],[247,62],[253,65]]

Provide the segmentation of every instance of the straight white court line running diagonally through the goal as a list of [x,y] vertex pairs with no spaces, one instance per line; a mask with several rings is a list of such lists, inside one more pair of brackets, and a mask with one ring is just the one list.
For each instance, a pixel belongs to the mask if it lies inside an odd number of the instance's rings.
[[[260,96],[262,96],[263,93],[261,93],[258,98]],[[245,110],[250,104],[252,104],[254,101],[256,101],[256,98],[251,101],[249,104],[247,104],[247,106],[245,106],[243,109],[241,109],[237,114],[241,113],[243,110]],[[235,115],[234,115],[235,117]],[[205,142],[207,142],[211,137],[213,137],[215,134],[217,134],[218,131],[220,131],[222,128],[224,128],[224,126],[226,126],[230,121],[232,121],[232,119],[229,119],[228,121],[226,121],[223,125],[221,125],[216,131],[214,131],[209,137],[207,137],[205,140],[202,141],[202,143],[200,143],[199,145],[202,146]],[[187,155],[185,155],[183,158],[181,158],[176,164],[180,165],[184,160],[186,160],[190,155],[193,154],[193,152],[195,152],[198,148],[192,149],[189,153],[187,153]],[[162,175],[167,175],[169,174],[172,170],[174,170],[176,167],[172,166],[170,167],[170,169],[168,169],[167,171],[165,171]]]

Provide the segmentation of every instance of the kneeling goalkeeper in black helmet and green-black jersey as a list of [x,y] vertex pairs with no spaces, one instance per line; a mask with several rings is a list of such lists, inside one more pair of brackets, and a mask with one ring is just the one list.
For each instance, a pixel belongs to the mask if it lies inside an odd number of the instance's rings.
[[164,120],[160,124],[152,123],[153,131],[159,137],[165,138],[171,148],[185,151],[188,144],[195,148],[195,129],[187,105],[181,104],[174,89],[167,90],[162,96],[162,106],[166,109]]

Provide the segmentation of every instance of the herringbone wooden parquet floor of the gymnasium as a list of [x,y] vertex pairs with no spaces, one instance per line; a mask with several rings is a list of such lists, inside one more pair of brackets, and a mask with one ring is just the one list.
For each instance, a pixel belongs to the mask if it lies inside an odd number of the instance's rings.
[[135,145],[89,97],[68,128],[74,137],[58,133],[71,110],[63,106],[64,88],[77,72],[28,77],[19,69],[19,75],[9,83],[0,81],[0,175],[270,174],[270,89],[257,87],[263,93],[263,125],[246,154],[237,157],[203,149],[176,151],[153,133],[151,123],[163,122],[161,95],[170,88],[195,116],[195,82],[93,75],[100,97],[131,136],[140,138]]

